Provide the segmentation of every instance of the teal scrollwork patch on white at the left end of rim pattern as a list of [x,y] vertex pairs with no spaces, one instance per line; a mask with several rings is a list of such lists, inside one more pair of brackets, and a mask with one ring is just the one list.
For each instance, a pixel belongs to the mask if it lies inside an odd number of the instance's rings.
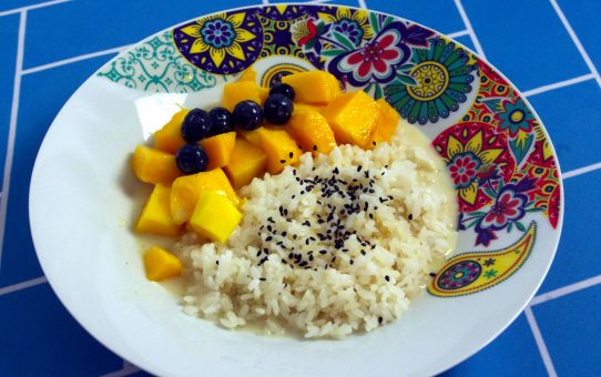
[[217,78],[198,70],[173,44],[171,31],[129,50],[98,73],[128,88],[149,92],[190,93],[217,84]]

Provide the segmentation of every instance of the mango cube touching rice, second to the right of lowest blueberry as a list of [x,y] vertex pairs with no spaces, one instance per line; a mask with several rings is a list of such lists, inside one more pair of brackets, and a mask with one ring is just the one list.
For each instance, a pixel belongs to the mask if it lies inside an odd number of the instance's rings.
[[223,167],[223,171],[237,190],[251,183],[255,176],[263,175],[266,161],[267,155],[261,147],[238,137],[230,163]]

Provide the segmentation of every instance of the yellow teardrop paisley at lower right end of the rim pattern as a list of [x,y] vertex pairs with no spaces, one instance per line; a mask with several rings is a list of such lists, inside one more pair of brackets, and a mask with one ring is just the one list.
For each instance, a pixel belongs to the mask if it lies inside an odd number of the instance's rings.
[[528,259],[537,236],[537,224],[515,244],[500,251],[471,252],[454,256],[428,284],[428,292],[439,297],[456,297],[481,292],[516,273]]

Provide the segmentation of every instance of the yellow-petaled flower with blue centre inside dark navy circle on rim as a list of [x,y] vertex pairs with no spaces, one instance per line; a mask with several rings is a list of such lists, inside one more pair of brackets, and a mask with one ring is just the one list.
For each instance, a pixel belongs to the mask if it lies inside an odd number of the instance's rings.
[[185,34],[194,38],[190,53],[208,51],[217,68],[223,63],[226,54],[244,61],[241,43],[256,38],[248,30],[241,28],[245,16],[244,12],[227,17],[225,13],[217,13],[196,20],[195,24],[183,28],[182,31]]

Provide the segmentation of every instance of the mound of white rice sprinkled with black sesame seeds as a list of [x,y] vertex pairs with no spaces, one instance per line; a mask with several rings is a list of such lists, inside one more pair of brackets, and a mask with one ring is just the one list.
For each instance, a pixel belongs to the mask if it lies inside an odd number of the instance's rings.
[[176,246],[185,313],[333,338],[400,317],[456,241],[446,172],[410,132],[399,126],[374,151],[307,153],[244,187],[244,216],[226,244],[190,233]]

